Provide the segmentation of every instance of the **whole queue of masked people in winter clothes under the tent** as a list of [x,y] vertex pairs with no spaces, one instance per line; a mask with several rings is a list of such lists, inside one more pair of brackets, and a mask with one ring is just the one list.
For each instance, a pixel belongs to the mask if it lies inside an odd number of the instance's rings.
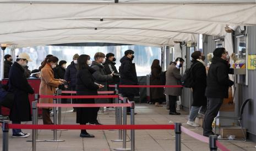
[[[205,117],[204,120],[204,136],[212,135],[211,123],[219,112],[222,101],[228,97],[228,87],[233,82],[228,79],[228,68],[225,48],[217,48],[214,50],[214,57],[211,66],[206,75],[204,55],[200,51],[195,51],[192,57],[192,65],[190,66],[193,74],[193,102],[189,113],[187,124],[197,127],[195,118],[200,115]],[[10,109],[10,120],[14,124],[21,121],[30,121],[30,104],[28,94],[33,94],[34,90],[29,85],[26,78],[28,74],[30,78],[40,78],[40,95],[54,95],[56,88],[77,91],[77,95],[97,95],[97,91],[113,90],[108,85],[138,85],[137,72],[135,68],[134,51],[126,50],[124,56],[120,59],[121,66],[119,72],[116,68],[115,54],[96,53],[94,61],[91,61],[89,55],[73,56],[73,61],[66,68],[67,62],[62,60],[58,63],[58,58],[53,55],[47,55],[41,63],[39,69],[32,72],[28,69],[28,61],[30,57],[26,53],[17,56],[17,60],[12,65],[12,56],[6,55],[4,74],[8,74],[9,91],[14,94],[14,105]],[[181,85],[181,72],[184,59],[177,57],[175,62],[171,62],[165,72],[165,85]],[[30,72],[30,73],[29,73]],[[155,59],[151,65],[151,85],[163,85],[161,80],[162,68],[160,61]],[[19,75],[17,78],[15,75]],[[22,86],[21,86],[22,85]],[[119,93],[123,97],[127,97],[129,101],[133,101],[134,96],[139,95],[139,88],[119,88]],[[170,104],[170,115],[180,115],[176,111],[176,102],[178,96],[182,95],[182,88],[153,88],[151,89],[151,100],[155,102],[155,106],[161,107],[161,103],[168,96]],[[40,103],[52,103],[51,98],[40,98]],[[112,103],[111,99],[78,99],[75,103]],[[50,118],[51,108],[42,108],[43,124],[53,124]],[[77,123],[102,125],[97,120],[97,112],[99,108],[74,108],[77,111]],[[127,109],[130,114],[130,109]],[[136,113],[135,113],[136,114]],[[14,129],[13,137],[28,137],[29,133]],[[80,137],[94,137],[86,130],[81,130]]]

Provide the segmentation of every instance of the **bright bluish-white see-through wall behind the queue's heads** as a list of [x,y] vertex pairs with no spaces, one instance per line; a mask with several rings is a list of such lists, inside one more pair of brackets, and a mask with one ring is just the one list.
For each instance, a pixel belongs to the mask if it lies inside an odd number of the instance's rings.
[[[121,65],[119,61],[121,57],[124,56],[124,51],[131,49],[134,50],[134,60],[136,65],[137,75],[142,76],[149,74],[151,72],[151,63],[154,59],[159,59],[161,61],[161,48],[147,47],[143,45],[119,45],[119,46],[106,46],[106,47],[67,47],[67,46],[38,46],[38,47],[28,47],[15,49],[15,56],[20,53],[28,53],[33,60],[29,62],[29,69],[37,69],[40,67],[41,62],[45,59],[46,55],[52,54],[57,56],[59,61],[66,60],[70,64],[73,59],[74,54],[87,54],[91,56],[91,60],[94,58],[94,54],[97,52],[102,52],[104,54],[113,53],[117,59],[116,67],[117,69]],[[7,54],[6,51],[5,54]]]

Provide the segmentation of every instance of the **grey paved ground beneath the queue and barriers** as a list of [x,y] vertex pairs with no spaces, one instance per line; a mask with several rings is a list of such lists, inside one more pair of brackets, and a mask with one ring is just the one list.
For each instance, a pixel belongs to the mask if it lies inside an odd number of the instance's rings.
[[[66,111],[62,114],[64,124],[75,124],[75,113],[71,108],[62,109]],[[150,104],[136,104],[135,124],[172,124],[173,122],[187,122],[186,112],[181,112],[181,115],[168,115],[165,107],[155,107]],[[99,121],[102,124],[115,124],[115,118],[110,117],[115,112],[107,111],[109,114],[99,115]],[[129,123],[129,117],[128,117]],[[28,123],[31,124],[31,123]],[[39,124],[42,120],[39,119]],[[190,130],[202,134],[202,129],[188,127]],[[24,130],[25,132],[31,132]],[[95,138],[80,138],[80,130],[58,131],[58,139],[65,140],[64,142],[37,142],[36,150],[90,150],[90,151],[108,151],[115,148],[122,147],[122,142],[112,142],[118,138],[118,131],[102,131],[102,130],[88,130],[89,133],[95,135]],[[130,131],[127,131],[127,138],[129,139]],[[11,136],[11,132],[9,133]],[[135,149],[136,150],[175,150],[175,132],[173,130],[135,130]],[[40,130],[39,140],[51,140],[53,132],[51,130]],[[12,138],[9,137],[9,150],[32,150],[31,136],[28,138]],[[0,133],[0,141],[2,142],[2,132]],[[230,150],[256,150],[256,143],[254,142],[223,142]],[[130,143],[127,142],[127,147]],[[209,145],[195,140],[194,138],[182,134],[182,150],[209,150]],[[2,148],[2,143],[0,143]]]

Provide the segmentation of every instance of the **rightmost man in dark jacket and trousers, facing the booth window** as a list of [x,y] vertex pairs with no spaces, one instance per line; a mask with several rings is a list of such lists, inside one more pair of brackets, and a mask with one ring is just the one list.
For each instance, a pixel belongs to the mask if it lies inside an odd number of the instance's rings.
[[204,136],[214,135],[211,126],[224,98],[228,97],[228,87],[234,83],[228,79],[227,54],[225,48],[216,48],[209,67],[205,95],[207,97],[207,111],[204,119]]

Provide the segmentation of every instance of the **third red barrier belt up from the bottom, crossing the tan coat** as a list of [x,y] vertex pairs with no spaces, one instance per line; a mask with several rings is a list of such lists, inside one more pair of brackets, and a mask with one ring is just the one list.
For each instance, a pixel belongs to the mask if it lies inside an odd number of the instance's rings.
[[40,98],[118,98],[118,95],[40,95]]

